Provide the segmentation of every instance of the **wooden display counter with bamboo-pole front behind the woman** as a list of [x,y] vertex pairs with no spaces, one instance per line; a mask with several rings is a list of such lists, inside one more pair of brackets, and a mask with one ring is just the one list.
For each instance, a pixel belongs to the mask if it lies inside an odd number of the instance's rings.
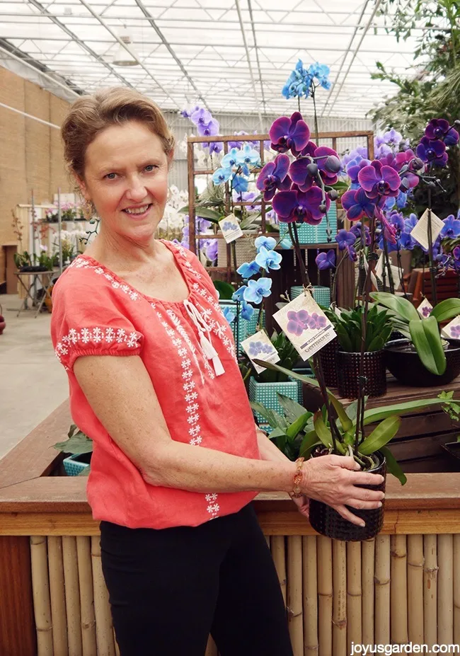
[[[457,383],[445,389],[460,396]],[[387,397],[372,404],[439,391],[390,382]],[[69,424],[66,402],[0,461],[1,656],[117,655],[86,478],[59,476],[62,456],[52,448]],[[433,457],[442,469],[439,445],[458,432],[441,410],[411,413],[393,451],[406,471]],[[444,471],[408,473],[404,487],[390,476],[383,531],[362,543],[318,536],[288,495],[258,495],[294,656],[346,656],[352,644],[427,645],[420,653],[460,644],[460,471],[453,461]],[[217,656],[212,640],[206,656]]]

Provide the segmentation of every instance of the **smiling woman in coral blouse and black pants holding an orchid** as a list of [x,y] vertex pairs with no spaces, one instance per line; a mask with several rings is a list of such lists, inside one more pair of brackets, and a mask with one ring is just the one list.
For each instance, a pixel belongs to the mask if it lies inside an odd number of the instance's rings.
[[[199,260],[154,238],[173,137],[148,98],[84,96],[62,126],[67,164],[100,231],[53,290],[52,339],[71,414],[93,439],[88,500],[122,656],[292,655],[251,500],[284,490],[375,508],[351,458],[292,463],[258,430],[231,329]],[[125,357],[120,357],[125,356]],[[209,520],[214,521],[209,521]]]

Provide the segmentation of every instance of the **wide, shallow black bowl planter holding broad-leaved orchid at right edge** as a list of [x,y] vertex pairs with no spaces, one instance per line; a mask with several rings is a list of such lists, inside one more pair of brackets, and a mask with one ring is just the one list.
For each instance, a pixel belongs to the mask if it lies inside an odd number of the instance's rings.
[[409,340],[392,340],[384,348],[385,364],[393,376],[411,387],[446,385],[460,374],[460,340],[447,339],[447,367],[442,376],[426,369]]

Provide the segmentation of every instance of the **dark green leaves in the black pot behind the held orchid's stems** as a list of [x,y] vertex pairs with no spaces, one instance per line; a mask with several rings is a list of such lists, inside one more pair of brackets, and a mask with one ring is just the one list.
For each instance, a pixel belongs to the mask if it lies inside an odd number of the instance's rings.
[[[344,351],[357,353],[361,350],[362,326],[364,324],[364,307],[358,306],[355,310],[342,310],[340,316],[331,310],[326,314],[333,323],[337,333],[340,347]],[[392,330],[391,318],[386,310],[374,305],[367,313],[366,339],[364,351],[378,351],[389,340]]]

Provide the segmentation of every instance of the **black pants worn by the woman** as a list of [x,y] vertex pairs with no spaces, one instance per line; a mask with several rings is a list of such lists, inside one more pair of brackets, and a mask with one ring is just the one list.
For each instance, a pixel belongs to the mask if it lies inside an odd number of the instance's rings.
[[101,522],[100,546],[122,656],[292,656],[270,550],[252,505],[201,526]]

